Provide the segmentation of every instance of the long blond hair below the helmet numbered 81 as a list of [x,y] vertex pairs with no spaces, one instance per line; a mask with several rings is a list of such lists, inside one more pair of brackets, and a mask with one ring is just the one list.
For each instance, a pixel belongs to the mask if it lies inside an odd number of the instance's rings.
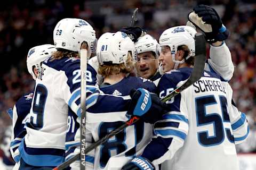
[[98,73],[106,78],[109,75],[115,75],[119,73],[125,73],[125,74],[131,73],[133,70],[134,70],[134,63],[132,61],[132,55],[129,52],[126,63],[99,65]]

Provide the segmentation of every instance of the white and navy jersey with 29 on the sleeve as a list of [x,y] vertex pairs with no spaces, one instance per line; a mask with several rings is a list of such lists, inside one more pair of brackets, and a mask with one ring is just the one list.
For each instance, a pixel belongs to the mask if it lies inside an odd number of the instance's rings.
[[[87,72],[86,81],[93,81],[90,75]],[[26,123],[27,134],[19,146],[20,155],[27,164],[57,166],[65,160],[68,108],[81,116],[80,82],[78,58],[49,58],[43,62],[36,79],[30,121]],[[89,85],[88,89],[86,95],[91,98],[96,88]],[[93,99],[97,97],[91,98],[87,106],[93,104]]]

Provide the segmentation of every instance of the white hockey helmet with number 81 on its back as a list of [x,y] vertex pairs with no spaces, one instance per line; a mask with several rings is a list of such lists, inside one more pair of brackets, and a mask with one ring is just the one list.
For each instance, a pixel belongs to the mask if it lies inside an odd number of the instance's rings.
[[98,40],[97,57],[100,65],[126,63],[129,52],[133,60],[136,60],[137,52],[134,43],[124,32],[107,32]]

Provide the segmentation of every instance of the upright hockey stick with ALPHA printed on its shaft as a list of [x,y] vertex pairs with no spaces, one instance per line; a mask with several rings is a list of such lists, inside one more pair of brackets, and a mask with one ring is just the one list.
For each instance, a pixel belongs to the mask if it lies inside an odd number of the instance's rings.
[[80,170],[85,170],[85,120],[86,120],[86,70],[87,49],[80,50],[81,69],[81,124],[80,124]]

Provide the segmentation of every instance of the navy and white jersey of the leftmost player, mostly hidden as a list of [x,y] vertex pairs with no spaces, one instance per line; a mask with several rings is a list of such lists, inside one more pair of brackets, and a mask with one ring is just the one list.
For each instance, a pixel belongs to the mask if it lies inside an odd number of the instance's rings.
[[14,105],[13,109],[9,109],[9,115],[12,117],[12,136],[10,151],[15,162],[19,162],[20,152],[18,147],[21,140],[26,135],[25,123],[29,118],[29,112],[33,99],[33,92],[22,96]]

